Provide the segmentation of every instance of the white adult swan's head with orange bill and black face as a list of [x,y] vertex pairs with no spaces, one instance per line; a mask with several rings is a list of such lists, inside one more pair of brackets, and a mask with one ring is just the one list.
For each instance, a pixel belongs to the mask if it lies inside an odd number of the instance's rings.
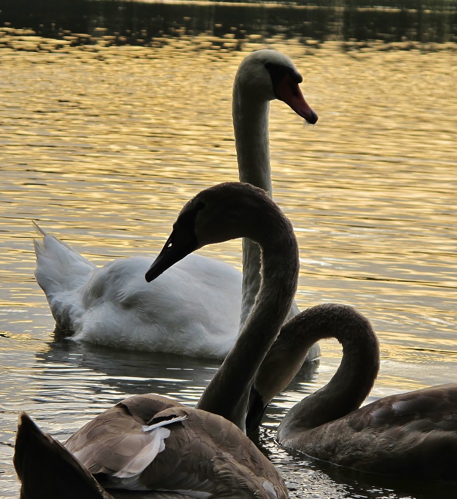
[[299,83],[303,81],[292,61],[277,50],[262,49],[247,55],[238,67],[234,91],[249,99],[279,99],[308,123],[316,123],[317,114],[303,97]]

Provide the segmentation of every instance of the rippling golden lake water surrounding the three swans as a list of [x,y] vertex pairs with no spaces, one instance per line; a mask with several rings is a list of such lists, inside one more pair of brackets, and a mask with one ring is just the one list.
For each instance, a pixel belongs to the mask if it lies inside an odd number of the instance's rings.
[[[282,103],[270,113],[274,196],[300,246],[299,306],[338,301],[371,319],[382,363],[368,402],[456,380],[455,2],[28,3],[5,0],[0,13],[1,497],[17,497],[19,411],[63,441],[129,394],[193,405],[217,369],[54,338],[31,221],[100,265],[160,250],[188,199],[237,179],[231,85],[257,48],[292,58],[319,115],[305,127]],[[201,253],[240,268],[240,250]],[[262,423],[258,444],[290,497],[454,498],[274,443],[282,415],[327,383],[340,355],[322,343],[317,369]]]

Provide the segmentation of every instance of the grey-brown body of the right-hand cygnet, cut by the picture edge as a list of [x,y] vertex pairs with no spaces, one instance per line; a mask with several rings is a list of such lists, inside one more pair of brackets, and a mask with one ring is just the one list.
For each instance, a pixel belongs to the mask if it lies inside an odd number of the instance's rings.
[[278,442],[361,471],[456,481],[457,383],[383,397],[347,416]]

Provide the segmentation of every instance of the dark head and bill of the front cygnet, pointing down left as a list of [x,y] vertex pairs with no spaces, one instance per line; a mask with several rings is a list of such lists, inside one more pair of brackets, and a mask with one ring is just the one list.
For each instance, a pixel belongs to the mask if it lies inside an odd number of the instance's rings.
[[151,282],[203,246],[242,237],[258,242],[262,227],[268,230],[260,220],[267,211],[285,219],[265,191],[250,184],[227,182],[205,189],[181,210],[164,248],[146,272],[146,280]]

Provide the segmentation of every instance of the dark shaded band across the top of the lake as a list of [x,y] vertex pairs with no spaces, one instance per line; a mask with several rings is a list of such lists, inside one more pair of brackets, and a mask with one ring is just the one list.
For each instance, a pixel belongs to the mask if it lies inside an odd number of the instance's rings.
[[[298,2],[297,2],[298,3]],[[457,42],[457,1],[352,0],[302,2],[144,2],[3,0],[0,27],[94,43],[100,30],[113,44],[148,45],[154,38],[200,33],[243,40],[249,35],[306,40]],[[98,36],[95,36],[98,39]]]

